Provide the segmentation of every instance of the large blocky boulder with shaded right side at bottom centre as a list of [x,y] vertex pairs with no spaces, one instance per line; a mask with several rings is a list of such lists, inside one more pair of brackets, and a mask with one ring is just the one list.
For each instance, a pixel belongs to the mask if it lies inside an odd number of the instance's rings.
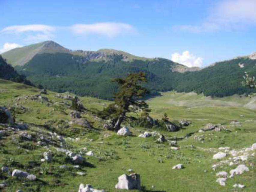
[[140,187],[140,175],[137,173],[132,173],[130,175],[123,174],[118,177],[118,183],[116,184],[116,189],[138,189]]

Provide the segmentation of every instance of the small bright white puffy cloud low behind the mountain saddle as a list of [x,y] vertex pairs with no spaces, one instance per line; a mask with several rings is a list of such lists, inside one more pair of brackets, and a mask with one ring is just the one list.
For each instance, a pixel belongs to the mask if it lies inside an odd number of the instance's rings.
[[187,67],[202,67],[203,64],[203,58],[196,57],[189,51],[184,51],[182,54],[173,53],[171,60]]

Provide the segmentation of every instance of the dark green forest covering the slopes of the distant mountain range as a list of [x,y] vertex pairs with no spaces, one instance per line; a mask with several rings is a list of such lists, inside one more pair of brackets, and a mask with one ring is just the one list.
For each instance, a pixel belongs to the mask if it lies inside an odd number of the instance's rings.
[[[243,63],[240,68],[238,63]],[[143,84],[152,95],[158,91],[195,91],[206,96],[224,97],[233,94],[250,93],[252,90],[241,86],[242,76],[247,71],[256,74],[255,60],[236,58],[218,62],[195,72],[173,72],[177,64],[170,60],[123,61],[120,55],[113,55],[108,61],[88,61],[79,55],[68,53],[38,54],[17,70],[36,85],[57,92],[70,91],[77,95],[112,99],[118,90],[113,78],[123,78],[129,73],[144,72],[148,83]]]

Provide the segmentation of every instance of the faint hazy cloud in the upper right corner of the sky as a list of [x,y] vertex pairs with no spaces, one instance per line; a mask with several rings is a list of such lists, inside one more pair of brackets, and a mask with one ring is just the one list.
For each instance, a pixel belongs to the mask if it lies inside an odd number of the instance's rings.
[[214,32],[239,29],[246,25],[256,25],[255,0],[219,1],[211,9],[209,16],[198,25],[176,25],[174,29],[189,32]]

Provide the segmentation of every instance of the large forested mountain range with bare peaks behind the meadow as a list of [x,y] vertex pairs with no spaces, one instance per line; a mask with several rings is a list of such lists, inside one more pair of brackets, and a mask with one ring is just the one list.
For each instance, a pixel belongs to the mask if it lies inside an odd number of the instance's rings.
[[117,85],[111,79],[143,71],[145,86],[152,95],[158,91],[195,91],[206,96],[224,97],[250,93],[242,87],[245,71],[256,74],[254,56],[217,62],[200,69],[186,67],[164,58],[145,58],[114,49],[70,50],[53,42],[12,49],[3,54],[18,72],[36,85],[58,92],[111,99]]

